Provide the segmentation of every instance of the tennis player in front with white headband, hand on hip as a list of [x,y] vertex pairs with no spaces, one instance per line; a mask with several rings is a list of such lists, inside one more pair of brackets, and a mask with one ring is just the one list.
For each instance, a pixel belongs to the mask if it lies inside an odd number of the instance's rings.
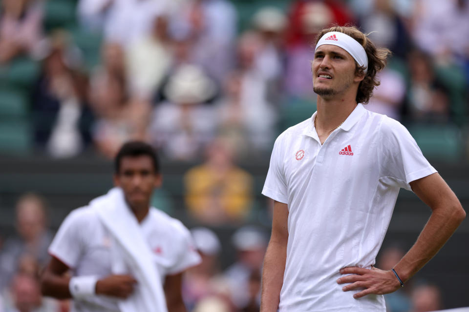
[[[355,27],[318,35],[318,111],[274,144],[262,194],[274,199],[261,312],[385,312],[382,294],[419,271],[466,213],[398,121],[367,111],[387,49]],[[392,271],[373,267],[400,188],[432,210]]]

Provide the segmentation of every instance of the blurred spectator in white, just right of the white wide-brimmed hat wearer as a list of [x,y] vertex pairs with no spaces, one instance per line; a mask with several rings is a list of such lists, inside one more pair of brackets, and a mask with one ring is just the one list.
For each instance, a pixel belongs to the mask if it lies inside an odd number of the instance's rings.
[[236,150],[241,155],[247,151],[269,150],[276,130],[278,113],[267,100],[270,74],[259,59],[262,49],[258,33],[246,32],[240,37],[239,69],[225,78],[224,97],[217,103],[218,127],[222,133],[235,138]]

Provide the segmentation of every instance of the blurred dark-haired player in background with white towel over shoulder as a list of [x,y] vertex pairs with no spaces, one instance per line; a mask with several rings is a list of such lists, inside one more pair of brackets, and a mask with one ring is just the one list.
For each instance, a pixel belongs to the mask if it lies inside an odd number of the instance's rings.
[[150,208],[161,182],[152,148],[124,144],[116,187],[72,211],[50,245],[43,294],[73,298],[72,312],[186,311],[182,272],[200,256],[180,221]]

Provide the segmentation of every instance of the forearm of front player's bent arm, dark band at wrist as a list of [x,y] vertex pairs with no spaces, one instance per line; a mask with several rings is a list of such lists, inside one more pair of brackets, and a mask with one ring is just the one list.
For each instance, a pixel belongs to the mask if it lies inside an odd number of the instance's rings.
[[460,205],[433,210],[415,244],[394,267],[404,282],[417,273],[443,247],[465,215]]

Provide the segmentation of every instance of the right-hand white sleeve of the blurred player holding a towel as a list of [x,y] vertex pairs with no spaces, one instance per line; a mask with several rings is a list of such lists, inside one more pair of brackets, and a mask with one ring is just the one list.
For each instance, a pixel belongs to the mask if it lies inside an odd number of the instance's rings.
[[[179,221],[175,221],[176,232],[179,236],[177,238],[178,246],[174,246],[177,249],[178,254],[173,265],[168,268],[168,274],[177,274],[200,263],[201,258],[195,245],[192,241],[191,232]],[[176,235],[176,233],[174,233]]]

